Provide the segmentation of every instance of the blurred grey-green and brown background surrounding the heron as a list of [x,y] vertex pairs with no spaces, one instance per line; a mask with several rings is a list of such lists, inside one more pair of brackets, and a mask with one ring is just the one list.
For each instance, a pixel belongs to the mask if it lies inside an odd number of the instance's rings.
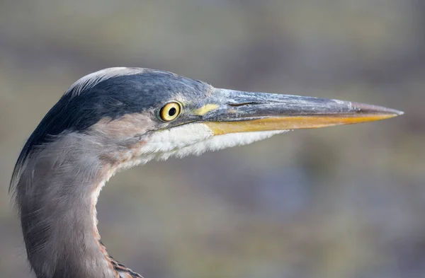
[[8,197],[30,133],[81,76],[174,71],[218,88],[384,105],[115,176],[113,257],[145,277],[425,277],[425,1],[0,1],[0,277],[33,277]]

